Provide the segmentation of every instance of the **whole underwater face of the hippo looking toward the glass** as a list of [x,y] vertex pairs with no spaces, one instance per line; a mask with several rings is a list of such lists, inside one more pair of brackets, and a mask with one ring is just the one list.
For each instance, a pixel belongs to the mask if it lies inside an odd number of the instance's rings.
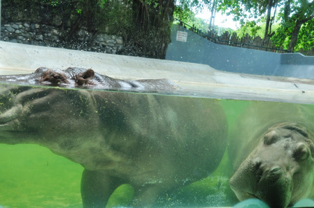
[[270,207],[287,207],[313,187],[313,142],[296,123],[274,125],[231,177],[239,200],[259,198]]

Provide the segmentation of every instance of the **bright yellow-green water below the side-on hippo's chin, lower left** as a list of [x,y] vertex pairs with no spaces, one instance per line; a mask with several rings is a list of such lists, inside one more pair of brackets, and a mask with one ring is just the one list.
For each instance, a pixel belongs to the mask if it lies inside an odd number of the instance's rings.
[[0,146],[3,207],[80,207],[79,164],[35,144]]

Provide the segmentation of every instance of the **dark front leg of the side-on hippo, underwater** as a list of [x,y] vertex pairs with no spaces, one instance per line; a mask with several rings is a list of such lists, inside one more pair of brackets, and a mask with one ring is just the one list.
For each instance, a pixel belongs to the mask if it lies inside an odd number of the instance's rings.
[[81,180],[81,196],[84,208],[106,207],[117,187],[124,184],[121,179],[105,175],[101,171],[84,170]]

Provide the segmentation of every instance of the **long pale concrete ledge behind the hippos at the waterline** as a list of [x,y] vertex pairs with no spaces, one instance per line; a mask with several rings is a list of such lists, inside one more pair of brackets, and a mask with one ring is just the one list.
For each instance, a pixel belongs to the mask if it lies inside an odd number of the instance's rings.
[[0,74],[31,73],[38,67],[92,68],[113,78],[168,78],[176,94],[208,98],[314,104],[314,80],[217,71],[208,65],[155,60],[0,42]]

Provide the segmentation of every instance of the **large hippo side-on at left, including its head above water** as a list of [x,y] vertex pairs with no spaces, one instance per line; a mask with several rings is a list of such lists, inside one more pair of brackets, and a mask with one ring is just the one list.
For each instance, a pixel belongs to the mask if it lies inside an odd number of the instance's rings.
[[0,80],[0,143],[38,144],[81,164],[83,207],[105,207],[122,184],[134,189],[131,206],[153,206],[208,176],[226,148],[219,101],[131,93],[178,89],[170,80],[44,67]]

